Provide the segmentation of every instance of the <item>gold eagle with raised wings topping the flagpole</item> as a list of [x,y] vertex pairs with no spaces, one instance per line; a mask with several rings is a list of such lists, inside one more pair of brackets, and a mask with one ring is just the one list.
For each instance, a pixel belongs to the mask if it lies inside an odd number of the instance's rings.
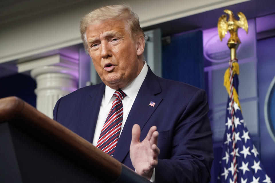
[[230,38],[228,40],[228,43],[241,43],[238,37],[238,28],[243,28],[246,33],[248,33],[248,24],[245,15],[241,12],[237,13],[239,17],[239,20],[237,21],[232,11],[225,9],[224,12],[229,15],[229,18],[227,21],[227,15],[221,15],[218,20],[218,33],[221,41],[224,38],[225,34],[227,34],[227,31],[229,31]]

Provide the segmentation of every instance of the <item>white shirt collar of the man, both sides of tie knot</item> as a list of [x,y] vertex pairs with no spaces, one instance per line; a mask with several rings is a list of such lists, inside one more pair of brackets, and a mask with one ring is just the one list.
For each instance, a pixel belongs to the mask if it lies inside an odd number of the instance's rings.
[[[131,81],[128,85],[126,85],[124,88],[121,88],[121,90],[133,101],[135,101],[135,98],[137,96],[138,91],[140,90],[140,87],[146,77],[148,66],[146,61],[144,61],[144,65],[140,73],[137,75],[137,77]],[[107,105],[113,94],[115,93],[115,89],[110,88],[109,86],[105,85],[105,93],[103,96],[102,104],[105,106]]]

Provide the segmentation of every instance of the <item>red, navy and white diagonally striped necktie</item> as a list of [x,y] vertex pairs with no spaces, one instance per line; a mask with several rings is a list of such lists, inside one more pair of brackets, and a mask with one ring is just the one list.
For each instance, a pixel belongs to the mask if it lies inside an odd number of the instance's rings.
[[110,156],[113,156],[113,153],[115,152],[115,146],[117,145],[119,133],[121,131],[123,119],[123,105],[121,100],[126,96],[126,94],[119,89],[115,91],[113,96],[115,96],[115,100],[113,101],[112,108],[103,125],[97,142],[97,148]]

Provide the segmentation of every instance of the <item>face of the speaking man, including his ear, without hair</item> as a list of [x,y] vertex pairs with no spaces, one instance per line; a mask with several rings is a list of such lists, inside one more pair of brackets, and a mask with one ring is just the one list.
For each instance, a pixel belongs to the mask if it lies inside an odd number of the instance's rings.
[[134,40],[122,20],[104,20],[86,31],[89,54],[101,80],[113,89],[125,87],[143,67],[144,40]]

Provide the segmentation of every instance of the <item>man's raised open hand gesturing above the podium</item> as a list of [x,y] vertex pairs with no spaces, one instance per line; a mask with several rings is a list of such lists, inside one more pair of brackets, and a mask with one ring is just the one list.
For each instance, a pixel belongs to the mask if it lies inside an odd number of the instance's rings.
[[140,142],[140,126],[135,124],[132,129],[130,158],[137,174],[150,180],[154,168],[158,165],[160,149],[158,145],[158,131],[152,126],[146,138]]

